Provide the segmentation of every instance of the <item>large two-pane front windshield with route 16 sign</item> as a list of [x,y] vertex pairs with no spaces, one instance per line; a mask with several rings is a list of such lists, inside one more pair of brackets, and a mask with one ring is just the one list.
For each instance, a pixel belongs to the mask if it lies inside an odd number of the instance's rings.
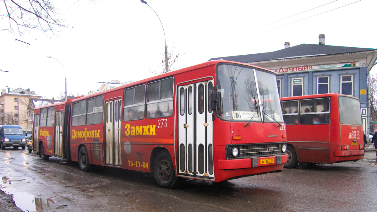
[[283,122],[274,74],[222,64],[218,66],[216,77],[216,85],[222,97],[222,118]]

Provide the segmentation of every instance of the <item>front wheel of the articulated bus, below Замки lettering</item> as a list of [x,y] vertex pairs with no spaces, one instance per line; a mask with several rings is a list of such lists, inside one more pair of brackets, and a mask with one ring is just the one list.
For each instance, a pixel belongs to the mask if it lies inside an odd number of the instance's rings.
[[153,175],[160,187],[171,189],[177,185],[178,177],[175,176],[172,158],[168,151],[161,151],[157,155]]

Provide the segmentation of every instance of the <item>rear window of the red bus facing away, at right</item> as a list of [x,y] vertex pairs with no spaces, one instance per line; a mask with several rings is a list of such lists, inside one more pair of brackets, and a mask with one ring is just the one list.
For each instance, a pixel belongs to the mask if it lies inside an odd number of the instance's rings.
[[339,121],[341,124],[361,123],[360,101],[350,97],[339,97]]

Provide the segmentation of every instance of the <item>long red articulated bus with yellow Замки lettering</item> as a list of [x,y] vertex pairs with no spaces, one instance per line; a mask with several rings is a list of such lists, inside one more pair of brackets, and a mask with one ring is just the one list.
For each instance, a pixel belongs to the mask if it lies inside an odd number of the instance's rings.
[[[286,132],[276,75],[214,60],[34,111],[33,149],[92,165],[209,181],[280,172]],[[55,122],[54,122],[55,121]]]

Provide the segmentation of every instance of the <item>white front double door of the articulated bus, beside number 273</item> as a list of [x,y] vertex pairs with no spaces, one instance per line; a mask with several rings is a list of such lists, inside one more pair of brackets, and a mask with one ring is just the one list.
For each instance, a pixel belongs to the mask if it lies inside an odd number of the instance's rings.
[[179,175],[214,178],[212,111],[208,99],[213,80],[178,87]]

